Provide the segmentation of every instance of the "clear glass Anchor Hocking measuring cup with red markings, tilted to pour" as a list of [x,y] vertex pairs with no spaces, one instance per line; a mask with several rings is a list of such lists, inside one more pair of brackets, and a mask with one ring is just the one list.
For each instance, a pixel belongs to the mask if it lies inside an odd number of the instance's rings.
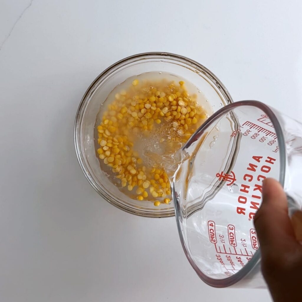
[[290,215],[301,209],[301,136],[296,120],[240,101],[212,115],[182,148],[172,185],[178,232],[207,284],[265,286],[253,218],[267,177],[283,185]]

